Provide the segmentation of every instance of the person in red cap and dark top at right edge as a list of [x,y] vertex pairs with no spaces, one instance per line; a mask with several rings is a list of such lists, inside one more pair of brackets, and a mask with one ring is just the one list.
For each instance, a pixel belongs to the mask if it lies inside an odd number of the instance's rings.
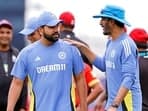
[[148,33],[143,28],[134,28],[129,35],[138,47],[142,111],[148,111]]

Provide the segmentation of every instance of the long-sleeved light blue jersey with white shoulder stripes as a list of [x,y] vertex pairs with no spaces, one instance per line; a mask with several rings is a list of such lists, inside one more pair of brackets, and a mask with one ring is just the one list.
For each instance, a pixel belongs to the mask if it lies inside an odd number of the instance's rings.
[[[126,33],[114,41],[109,40],[105,56],[97,57],[94,65],[106,72],[108,93],[106,109],[113,103],[119,88],[123,86],[132,93],[133,111],[141,111],[138,51],[135,43]],[[118,111],[125,111],[122,105],[119,106]]]

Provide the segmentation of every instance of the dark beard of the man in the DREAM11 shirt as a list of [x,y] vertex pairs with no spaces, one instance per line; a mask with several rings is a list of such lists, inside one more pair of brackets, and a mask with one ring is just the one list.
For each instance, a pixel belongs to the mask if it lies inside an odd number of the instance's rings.
[[54,33],[54,34],[51,34],[51,35],[48,35],[48,34],[45,34],[44,33],[44,38],[46,39],[46,40],[48,40],[49,42],[56,42],[56,41],[58,41],[59,40],[59,33]]

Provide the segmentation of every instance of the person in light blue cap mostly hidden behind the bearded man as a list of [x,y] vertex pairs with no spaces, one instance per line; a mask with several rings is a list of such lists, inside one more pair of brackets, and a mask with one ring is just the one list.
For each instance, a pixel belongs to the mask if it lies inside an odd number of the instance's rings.
[[[41,39],[41,34],[40,34],[40,24],[38,22],[38,17],[31,17],[27,20],[26,25],[24,29],[22,29],[19,33],[24,35],[29,42],[34,43],[37,40]],[[28,84],[28,97],[27,97],[27,111],[34,111],[35,107],[35,97],[32,91],[32,83],[30,80],[30,77],[28,76],[27,79],[27,84]]]

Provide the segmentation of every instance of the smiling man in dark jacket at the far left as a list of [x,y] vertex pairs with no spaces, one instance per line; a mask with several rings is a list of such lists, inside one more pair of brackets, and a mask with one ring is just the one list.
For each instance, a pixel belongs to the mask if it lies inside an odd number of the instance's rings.
[[[13,64],[16,62],[18,49],[12,45],[13,26],[6,20],[0,20],[0,110],[6,111],[7,97],[12,76],[10,75]],[[15,111],[25,111],[27,88],[23,92],[15,107]]]

